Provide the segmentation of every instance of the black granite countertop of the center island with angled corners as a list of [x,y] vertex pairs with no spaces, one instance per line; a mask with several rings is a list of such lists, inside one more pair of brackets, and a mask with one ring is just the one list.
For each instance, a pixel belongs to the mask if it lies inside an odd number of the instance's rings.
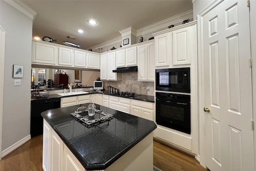
[[[88,103],[41,113],[86,170],[106,169],[156,129],[153,121],[95,105],[96,109],[114,116],[98,125],[86,127],[70,113],[80,106],[88,106]],[[69,129],[61,129],[63,125],[69,125]]]

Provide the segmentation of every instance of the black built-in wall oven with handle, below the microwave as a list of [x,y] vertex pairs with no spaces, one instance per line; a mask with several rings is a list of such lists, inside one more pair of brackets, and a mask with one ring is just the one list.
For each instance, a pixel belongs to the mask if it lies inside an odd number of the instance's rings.
[[156,123],[190,134],[190,95],[156,92]]

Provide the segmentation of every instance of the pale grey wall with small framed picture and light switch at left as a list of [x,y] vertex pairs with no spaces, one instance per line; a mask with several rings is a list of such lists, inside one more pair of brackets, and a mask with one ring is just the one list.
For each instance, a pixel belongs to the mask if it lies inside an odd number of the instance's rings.
[[[32,22],[32,18],[6,1],[0,0],[0,25],[6,31],[2,137],[0,137],[1,152],[5,154],[8,153],[9,147],[22,144],[30,137]],[[24,66],[23,78],[12,77],[13,64]],[[21,85],[14,86],[16,79],[20,80]]]

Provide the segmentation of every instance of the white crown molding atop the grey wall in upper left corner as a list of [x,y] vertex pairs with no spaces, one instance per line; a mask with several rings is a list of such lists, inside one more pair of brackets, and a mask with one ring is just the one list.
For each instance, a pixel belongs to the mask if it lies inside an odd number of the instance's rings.
[[4,0],[4,1],[10,4],[11,6],[13,6],[14,8],[16,8],[17,10],[19,10],[20,12],[23,12],[26,16],[33,19],[33,22],[34,22],[37,12],[32,8],[30,8],[30,6],[25,4],[23,1],[21,0]]

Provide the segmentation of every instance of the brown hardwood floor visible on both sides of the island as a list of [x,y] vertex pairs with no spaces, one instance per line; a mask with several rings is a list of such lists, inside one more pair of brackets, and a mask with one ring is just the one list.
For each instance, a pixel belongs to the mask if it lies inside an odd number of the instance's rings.
[[[42,135],[2,158],[0,171],[42,171]],[[207,171],[194,156],[154,141],[154,166],[162,171]]]

